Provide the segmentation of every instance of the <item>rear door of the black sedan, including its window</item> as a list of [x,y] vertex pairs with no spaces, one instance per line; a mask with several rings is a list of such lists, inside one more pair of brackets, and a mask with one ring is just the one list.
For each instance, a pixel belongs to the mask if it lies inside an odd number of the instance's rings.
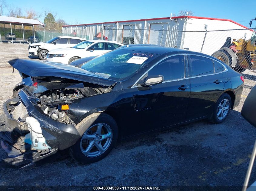
[[191,93],[186,121],[210,115],[225,85],[223,72],[218,68],[215,72],[212,59],[198,55],[188,59]]

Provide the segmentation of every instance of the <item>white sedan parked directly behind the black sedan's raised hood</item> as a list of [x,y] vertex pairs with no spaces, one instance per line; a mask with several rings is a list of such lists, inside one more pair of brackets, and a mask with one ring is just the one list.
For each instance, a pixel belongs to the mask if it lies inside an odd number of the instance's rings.
[[123,44],[107,40],[86,40],[71,48],[59,48],[48,52],[48,62],[69,64],[72,61],[89,56],[99,56],[114,50]]

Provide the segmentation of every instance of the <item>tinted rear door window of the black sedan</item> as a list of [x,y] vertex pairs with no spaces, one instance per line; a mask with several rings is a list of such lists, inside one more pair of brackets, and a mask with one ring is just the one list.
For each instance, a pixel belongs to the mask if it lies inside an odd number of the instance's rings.
[[202,56],[190,55],[190,61],[192,65],[192,75],[207,75],[214,73],[214,66],[212,59]]

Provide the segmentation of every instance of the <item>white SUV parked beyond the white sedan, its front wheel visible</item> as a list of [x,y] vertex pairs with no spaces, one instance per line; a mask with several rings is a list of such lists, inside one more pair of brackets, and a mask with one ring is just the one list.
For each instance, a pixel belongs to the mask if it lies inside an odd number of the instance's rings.
[[72,47],[77,43],[87,40],[79,37],[59,36],[45,43],[32,43],[28,46],[30,56],[38,56],[40,60],[46,60],[47,53],[52,49]]

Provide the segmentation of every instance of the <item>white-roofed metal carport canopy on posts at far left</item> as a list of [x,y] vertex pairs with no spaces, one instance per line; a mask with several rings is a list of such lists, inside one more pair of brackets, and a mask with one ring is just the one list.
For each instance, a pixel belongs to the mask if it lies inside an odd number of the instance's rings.
[[[35,19],[25,19],[25,18],[6,17],[6,16],[0,16],[0,23],[2,23],[2,24],[10,23],[11,33],[12,33],[12,24],[22,25],[23,44],[24,44],[24,27],[23,27],[23,25],[33,27],[34,37],[35,37],[34,25],[45,26],[43,23],[41,23],[40,21],[35,20]],[[0,38],[1,38],[1,34],[0,34]],[[1,42],[2,42],[2,39],[1,39]],[[13,43],[13,40],[12,40],[12,43]]]

